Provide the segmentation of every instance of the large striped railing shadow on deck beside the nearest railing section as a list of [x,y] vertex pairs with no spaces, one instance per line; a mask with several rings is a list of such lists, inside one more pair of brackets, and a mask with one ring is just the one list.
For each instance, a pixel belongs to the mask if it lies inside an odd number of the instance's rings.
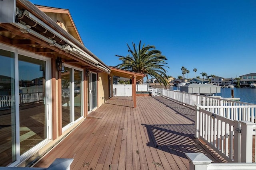
[[[160,149],[170,154],[175,154],[182,158],[187,158],[185,153],[201,152],[204,154],[206,151],[200,147],[196,147],[194,135],[194,125],[146,125],[150,141],[147,146]],[[217,153],[212,152],[219,158],[220,162],[226,162]]]

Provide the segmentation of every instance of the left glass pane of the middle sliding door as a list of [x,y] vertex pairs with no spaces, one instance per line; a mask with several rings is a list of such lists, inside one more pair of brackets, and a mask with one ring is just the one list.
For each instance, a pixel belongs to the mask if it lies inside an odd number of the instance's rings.
[[65,127],[72,121],[70,106],[71,68],[64,67],[64,71],[61,73],[61,79],[62,127]]

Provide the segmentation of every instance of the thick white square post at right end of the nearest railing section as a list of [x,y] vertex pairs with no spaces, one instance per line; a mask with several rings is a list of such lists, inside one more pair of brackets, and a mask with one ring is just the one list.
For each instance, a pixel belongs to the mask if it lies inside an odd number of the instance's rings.
[[241,122],[241,162],[252,162],[252,134],[255,123]]

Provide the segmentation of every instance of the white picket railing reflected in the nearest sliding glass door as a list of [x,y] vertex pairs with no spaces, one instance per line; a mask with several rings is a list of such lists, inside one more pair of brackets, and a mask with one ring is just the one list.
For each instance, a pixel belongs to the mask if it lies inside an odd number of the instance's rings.
[[[20,94],[20,104],[40,102],[44,100],[44,92]],[[0,108],[11,107],[15,105],[15,95],[0,96]]]

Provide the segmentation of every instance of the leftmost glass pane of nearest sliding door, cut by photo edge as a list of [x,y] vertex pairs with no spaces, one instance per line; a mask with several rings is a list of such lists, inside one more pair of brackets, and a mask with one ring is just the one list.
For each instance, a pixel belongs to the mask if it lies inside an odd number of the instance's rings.
[[14,53],[0,49],[0,166],[16,160]]

